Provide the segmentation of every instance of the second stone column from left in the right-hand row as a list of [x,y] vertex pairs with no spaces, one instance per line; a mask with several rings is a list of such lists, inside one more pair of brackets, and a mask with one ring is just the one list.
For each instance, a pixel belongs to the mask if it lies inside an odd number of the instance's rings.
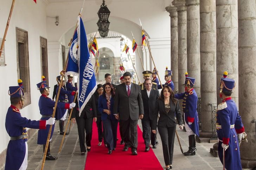
[[187,71],[187,8],[185,0],[174,0],[172,5],[177,7],[178,14],[178,89],[179,93],[182,93],[184,92],[182,84],[185,82],[185,72]]

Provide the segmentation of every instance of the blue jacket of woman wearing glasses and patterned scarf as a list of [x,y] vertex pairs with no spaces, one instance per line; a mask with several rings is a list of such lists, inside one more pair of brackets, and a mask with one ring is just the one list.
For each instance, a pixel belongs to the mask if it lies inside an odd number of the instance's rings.
[[[110,99],[110,118],[111,120],[115,120],[115,116],[113,115],[113,106],[114,106],[114,97],[111,97]],[[101,120],[106,120],[108,118],[108,114],[103,112],[103,109],[108,109],[108,105],[107,105],[107,99],[105,98],[105,96],[100,95],[99,97],[99,102],[98,102],[98,110],[100,111],[101,114]]]

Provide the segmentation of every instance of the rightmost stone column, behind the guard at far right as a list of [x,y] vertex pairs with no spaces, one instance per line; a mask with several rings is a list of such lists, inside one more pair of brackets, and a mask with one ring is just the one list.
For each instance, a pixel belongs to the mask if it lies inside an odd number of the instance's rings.
[[[256,118],[256,2],[238,1],[238,69],[239,114],[242,117],[248,143],[241,143],[243,168],[256,166],[255,123]],[[236,87],[238,87],[236,85]]]

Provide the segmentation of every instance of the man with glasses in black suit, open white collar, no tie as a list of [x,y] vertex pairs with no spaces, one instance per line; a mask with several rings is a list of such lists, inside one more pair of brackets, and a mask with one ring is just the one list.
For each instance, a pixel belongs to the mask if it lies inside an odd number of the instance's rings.
[[141,120],[142,136],[146,145],[145,152],[149,151],[149,142],[151,140],[152,148],[156,148],[156,134],[152,132],[152,125],[154,119],[154,110],[156,100],[159,98],[159,91],[152,88],[152,80],[146,79],[144,81],[145,89],[141,90],[141,96],[144,108],[144,117]]

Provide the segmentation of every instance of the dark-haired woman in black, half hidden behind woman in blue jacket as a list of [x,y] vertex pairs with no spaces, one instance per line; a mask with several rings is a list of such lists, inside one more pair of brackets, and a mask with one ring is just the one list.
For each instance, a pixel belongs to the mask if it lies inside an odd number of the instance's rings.
[[[103,93],[103,86],[102,84],[98,84],[97,85],[97,89],[94,92],[94,94],[92,95],[92,111],[97,115],[97,128],[98,128],[98,146],[101,145],[102,143],[102,138],[103,138],[103,134],[102,134],[102,121],[101,121],[101,112],[98,110],[98,101],[99,101],[99,96],[102,95]],[[104,131],[104,129],[103,129]]]

